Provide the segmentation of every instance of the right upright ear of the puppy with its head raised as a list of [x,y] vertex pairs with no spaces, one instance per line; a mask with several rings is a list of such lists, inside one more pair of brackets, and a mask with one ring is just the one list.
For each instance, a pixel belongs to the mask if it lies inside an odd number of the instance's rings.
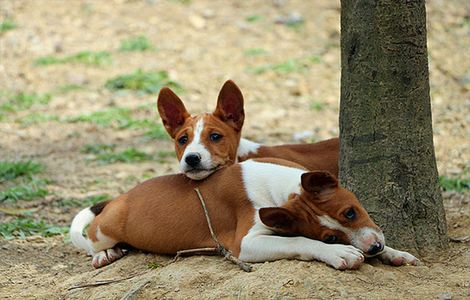
[[214,115],[232,126],[236,131],[242,129],[245,120],[243,95],[233,81],[227,80],[222,86]]

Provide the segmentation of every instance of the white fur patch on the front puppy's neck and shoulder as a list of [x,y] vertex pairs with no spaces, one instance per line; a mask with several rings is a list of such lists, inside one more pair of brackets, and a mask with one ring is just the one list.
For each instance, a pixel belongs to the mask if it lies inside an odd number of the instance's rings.
[[292,193],[300,194],[300,176],[305,170],[247,160],[242,166],[242,180],[255,208],[281,206]]

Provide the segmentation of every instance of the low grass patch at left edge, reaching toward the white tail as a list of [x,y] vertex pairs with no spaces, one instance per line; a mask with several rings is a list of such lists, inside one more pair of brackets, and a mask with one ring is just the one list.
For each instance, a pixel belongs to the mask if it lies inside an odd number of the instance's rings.
[[48,224],[44,220],[18,218],[0,224],[0,235],[5,240],[24,239],[27,236],[40,235],[50,237],[69,232],[68,226]]

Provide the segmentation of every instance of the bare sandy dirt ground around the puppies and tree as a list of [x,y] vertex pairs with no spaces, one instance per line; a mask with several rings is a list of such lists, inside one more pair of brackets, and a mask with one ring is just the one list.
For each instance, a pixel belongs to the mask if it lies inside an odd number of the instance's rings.
[[[433,0],[427,10],[437,163],[442,175],[468,174],[470,3]],[[275,23],[292,12],[305,22],[297,27]],[[101,165],[88,161],[82,151],[97,143],[149,153],[172,150],[170,141],[146,139],[141,129],[15,121],[30,113],[65,120],[109,107],[137,110],[142,105],[139,116],[156,120],[155,94],[103,87],[106,80],[139,68],[168,71],[184,87],[182,98],[193,112],[212,110],[222,83],[235,80],[246,99],[248,138],[284,143],[296,141],[296,134],[304,131],[307,140],[337,136],[339,16],[339,3],[329,0],[2,0],[0,18],[14,20],[17,28],[0,33],[0,91],[51,93],[81,86],[54,93],[49,104],[8,114],[0,122],[0,160],[39,161],[47,167],[40,176],[50,180],[49,196],[2,205],[36,208],[35,217],[68,225],[80,207],[54,205],[61,199],[117,196],[148,176],[176,172],[172,157]],[[135,35],[148,37],[154,49],[118,51],[122,40]],[[112,62],[34,65],[41,56],[80,51],[109,51]],[[289,59],[301,63],[293,69],[273,67]],[[268,64],[265,72],[253,71]],[[470,232],[469,198],[468,193],[445,194],[451,237]],[[2,222],[12,218],[0,212]],[[0,238],[0,298],[469,299],[469,245],[451,243],[447,251],[423,257],[418,267],[372,262],[357,271],[339,272],[318,262],[283,260],[255,264],[248,274],[218,257],[169,264],[169,257],[138,252],[93,270],[90,258],[63,237]],[[71,289],[101,280],[115,281]]]

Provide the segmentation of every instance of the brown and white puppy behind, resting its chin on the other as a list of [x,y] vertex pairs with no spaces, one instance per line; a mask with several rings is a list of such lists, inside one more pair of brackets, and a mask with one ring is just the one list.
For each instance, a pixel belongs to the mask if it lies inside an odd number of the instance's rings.
[[[158,111],[175,140],[180,170],[191,179],[202,180],[237,161],[263,157],[285,159],[308,170],[324,170],[338,176],[338,138],[279,146],[265,146],[240,138],[244,121],[243,95],[230,80],[223,85],[212,114],[191,116],[181,99],[168,88],[159,94]],[[409,253],[389,247],[385,250],[381,255],[384,261],[396,265],[416,262]]]

